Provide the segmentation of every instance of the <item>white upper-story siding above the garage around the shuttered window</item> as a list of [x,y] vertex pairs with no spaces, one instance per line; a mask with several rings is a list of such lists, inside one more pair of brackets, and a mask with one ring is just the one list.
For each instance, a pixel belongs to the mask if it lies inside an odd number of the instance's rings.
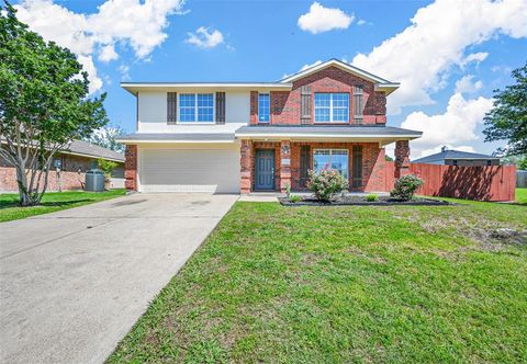
[[[210,92],[173,90],[173,92]],[[226,92],[225,125],[167,125],[167,92],[139,92],[138,133],[234,133],[249,123],[250,93]],[[179,114],[179,110],[178,110]]]

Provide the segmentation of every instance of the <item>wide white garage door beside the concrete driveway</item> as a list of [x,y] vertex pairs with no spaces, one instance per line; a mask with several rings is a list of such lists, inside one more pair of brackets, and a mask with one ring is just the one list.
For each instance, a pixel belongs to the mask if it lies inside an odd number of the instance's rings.
[[139,149],[139,191],[239,193],[239,148]]

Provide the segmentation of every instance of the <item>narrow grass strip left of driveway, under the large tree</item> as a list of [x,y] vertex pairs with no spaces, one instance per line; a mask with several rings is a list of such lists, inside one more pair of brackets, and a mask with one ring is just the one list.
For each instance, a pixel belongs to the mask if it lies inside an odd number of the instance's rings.
[[119,197],[125,193],[125,190],[111,190],[100,193],[83,191],[48,192],[42,197],[40,206],[32,207],[21,207],[16,193],[2,193],[0,194],[0,223],[78,207]]

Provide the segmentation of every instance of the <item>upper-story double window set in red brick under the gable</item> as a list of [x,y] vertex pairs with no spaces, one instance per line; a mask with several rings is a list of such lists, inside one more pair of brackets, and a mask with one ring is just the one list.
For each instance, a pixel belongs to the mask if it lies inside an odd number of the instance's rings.
[[348,123],[349,93],[315,93],[315,123]]

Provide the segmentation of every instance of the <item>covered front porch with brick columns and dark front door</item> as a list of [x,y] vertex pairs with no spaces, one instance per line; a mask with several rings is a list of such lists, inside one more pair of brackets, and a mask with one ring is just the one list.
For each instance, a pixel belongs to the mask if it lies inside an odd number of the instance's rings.
[[[348,179],[351,192],[388,192],[394,178],[406,174],[410,167],[408,140],[414,136],[358,135],[358,127],[341,130],[325,127],[323,134],[306,135],[313,128],[247,127],[237,133],[240,147],[240,192],[306,191],[309,171],[333,168]],[[327,135],[328,129],[333,135]],[[399,129],[401,130],[401,129]],[[340,133],[335,133],[340,132]],[[378,132],[386,132],[378,128]],[[249,134],[250,133],[250,134]],[[300,135],[299,135],[300,134]],[[386,162],[384,146],[395,143],[395,162]]]

